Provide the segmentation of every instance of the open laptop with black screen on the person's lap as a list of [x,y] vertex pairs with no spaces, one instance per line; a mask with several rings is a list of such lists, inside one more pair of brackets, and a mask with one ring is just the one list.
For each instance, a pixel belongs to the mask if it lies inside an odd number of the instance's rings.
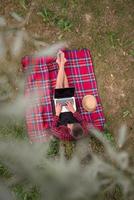
[[55,106],[57,103],[60,103],[62,105],[61,113],[70,112],[66,108],[67,101],[70,101],[73,104],[73,107],[76,111],[76,102],[75,102],[75,98],[74,98],[74,92],[75,92],[74,87],[55,89],[54,104],[55,104]]

